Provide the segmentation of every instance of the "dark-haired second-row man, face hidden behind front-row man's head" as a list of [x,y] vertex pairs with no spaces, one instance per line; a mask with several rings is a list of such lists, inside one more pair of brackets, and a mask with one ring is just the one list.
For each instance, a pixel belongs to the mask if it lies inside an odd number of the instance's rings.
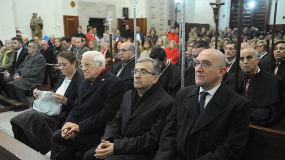
[[176,92],[181,88],[180,68],[167,60],[166,52],[161,47],[153,48],[149,56],[155,59],[161,67],[161,73],[159,75],[160,84],[168,94],[175,97]]

